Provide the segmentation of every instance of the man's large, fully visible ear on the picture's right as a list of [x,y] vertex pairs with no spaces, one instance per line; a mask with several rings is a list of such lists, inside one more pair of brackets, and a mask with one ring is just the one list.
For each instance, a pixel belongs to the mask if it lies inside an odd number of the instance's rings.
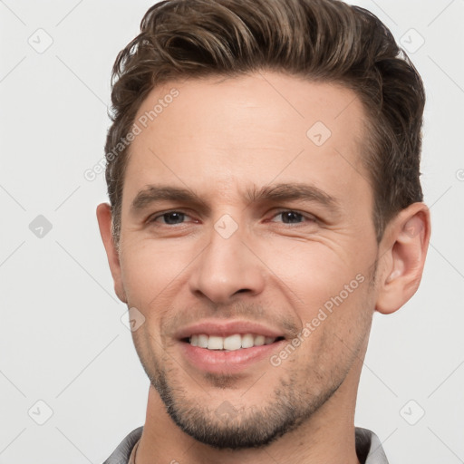
[[416,293],[429,240],[430,211],[425,204],[413,203],[391,219],[379,247],[379,313],[394,313]]

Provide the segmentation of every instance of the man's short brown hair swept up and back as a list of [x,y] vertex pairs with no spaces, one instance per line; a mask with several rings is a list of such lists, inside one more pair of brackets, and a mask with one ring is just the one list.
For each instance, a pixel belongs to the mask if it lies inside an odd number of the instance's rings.
[[340,83],[361,99],[378,241],[396,213],[422,201],[423,84],[374,14],[338,0],[166,0],[150,7],[112,70],[105,153],[116,243],[129,146],[114,149],[148,93],[169,80],[260,70]]

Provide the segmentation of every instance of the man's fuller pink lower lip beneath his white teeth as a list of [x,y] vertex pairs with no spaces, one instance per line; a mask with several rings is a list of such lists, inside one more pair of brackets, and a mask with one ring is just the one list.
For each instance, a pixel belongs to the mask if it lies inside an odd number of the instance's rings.
[[240,372],[256,362],[269,360],[272,353],[281,350],[285,340],[275,343],[242,348],[230,352],[220,350],[208,350],[193,346],[187,342],[180,342],[183,355],[189,363],[200,371],[218,372]]

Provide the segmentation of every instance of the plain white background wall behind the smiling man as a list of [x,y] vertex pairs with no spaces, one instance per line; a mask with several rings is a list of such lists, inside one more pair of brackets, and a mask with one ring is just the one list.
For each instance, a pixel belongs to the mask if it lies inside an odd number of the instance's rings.
[[[111,65],[150,5],[0,2],[2,464],[97,464],[145,419],[149,382],[95,218],[106,186],[83,172],[102,160]],[[358,5],[411,50],[425,41],[410,56],[428,97],[422,182],[433,232],[418,294],[374,318],[356,425],[378,434],[391,464],[464,462],[464,2]],[[47,35],[43,53],[28,43]],[[38,215],[53,226],[42,238],[29,228]]]

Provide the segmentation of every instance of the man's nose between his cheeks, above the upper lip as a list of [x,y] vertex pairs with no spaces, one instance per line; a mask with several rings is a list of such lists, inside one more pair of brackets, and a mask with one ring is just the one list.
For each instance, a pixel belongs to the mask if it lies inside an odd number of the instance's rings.
[[190,289],[215,304],[227,304],[238,294],[259,295],[265,285],[265,266],[245,242],[240,228],[230,237],[212,228],[210,241],[195,260]]

